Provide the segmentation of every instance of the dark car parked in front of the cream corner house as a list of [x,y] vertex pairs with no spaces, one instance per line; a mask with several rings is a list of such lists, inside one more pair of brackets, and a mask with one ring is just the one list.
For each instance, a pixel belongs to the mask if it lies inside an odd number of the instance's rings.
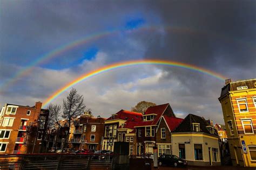
[[174,167],[178,167],[178,166],[186,167],[187,161],[177,157],[176,155],[163,154],[163,155],[160,155],[160,157],[158,159],[158,165],[159,166],[170,165],[170,166],[174,166]]

